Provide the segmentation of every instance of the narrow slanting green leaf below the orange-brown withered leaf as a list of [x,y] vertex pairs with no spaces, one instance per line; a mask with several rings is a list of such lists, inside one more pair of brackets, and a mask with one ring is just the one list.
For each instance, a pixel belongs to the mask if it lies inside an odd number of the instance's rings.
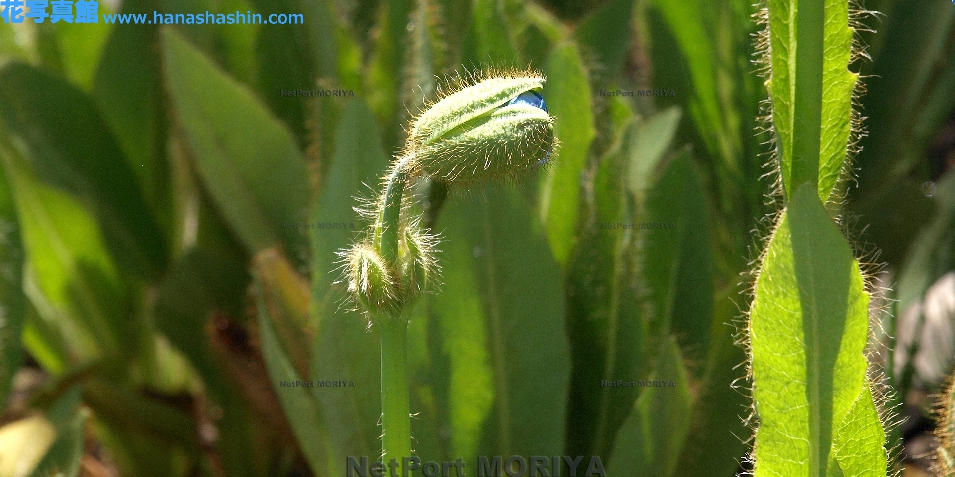
[[283,386],[281,382],[298,382],[302,377],[295,370],[295,366],[283,350],[279,337],[272,326],[273,318],[269,316],[268,307],[263,297],[262,281],[254,277],[256,309],[258,310],[258,325],[262,340],[262,354],[268,368],[272,388],[279,396],[279,402],[286,413],[288,424],[305,454],[308,466],[315,473],[321,474],[331,471],[326,453],[325,433],[322,427],[322,416],[318,403],[312,397],[308,387]]

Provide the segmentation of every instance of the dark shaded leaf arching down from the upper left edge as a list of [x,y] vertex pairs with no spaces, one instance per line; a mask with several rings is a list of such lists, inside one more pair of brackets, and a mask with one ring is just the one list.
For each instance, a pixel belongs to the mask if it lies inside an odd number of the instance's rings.
[[93,102],[56,76],[23,64],[4,68],[0,85],[5,128],[36,176],[96,214],[124,271],[158,280],[167,259],[164,235]]

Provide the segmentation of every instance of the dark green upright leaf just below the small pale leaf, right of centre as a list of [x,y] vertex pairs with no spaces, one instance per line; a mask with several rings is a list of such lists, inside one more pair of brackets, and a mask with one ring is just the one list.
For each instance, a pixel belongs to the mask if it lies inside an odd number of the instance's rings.
[[706,356],[712,319],[710,219],[703,194],[684,150],[653,184],[638,215],[650,334],[657,342],[675,334],[692,358]]

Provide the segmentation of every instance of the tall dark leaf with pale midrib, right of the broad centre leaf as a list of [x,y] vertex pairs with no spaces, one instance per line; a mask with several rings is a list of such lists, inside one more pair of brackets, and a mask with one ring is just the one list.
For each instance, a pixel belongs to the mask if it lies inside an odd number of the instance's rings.
[[605,386],[646,376],[646,324],[636,292],[636,233],[626,190],[632,123],[601,162],[584,197],[581,242],[568,265],[567,329],[573,337],[567,449],[608,455],[637,398],[634,386]]

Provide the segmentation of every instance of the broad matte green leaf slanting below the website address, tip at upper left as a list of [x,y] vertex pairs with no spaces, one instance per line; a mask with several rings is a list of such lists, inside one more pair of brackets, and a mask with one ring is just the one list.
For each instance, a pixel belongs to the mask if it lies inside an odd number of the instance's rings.
[[308,168],[294,137],[243,86],[171,30],[163,31],[169,90],[196,169],[249,253],[305,236],[283,227],[305,218]]

